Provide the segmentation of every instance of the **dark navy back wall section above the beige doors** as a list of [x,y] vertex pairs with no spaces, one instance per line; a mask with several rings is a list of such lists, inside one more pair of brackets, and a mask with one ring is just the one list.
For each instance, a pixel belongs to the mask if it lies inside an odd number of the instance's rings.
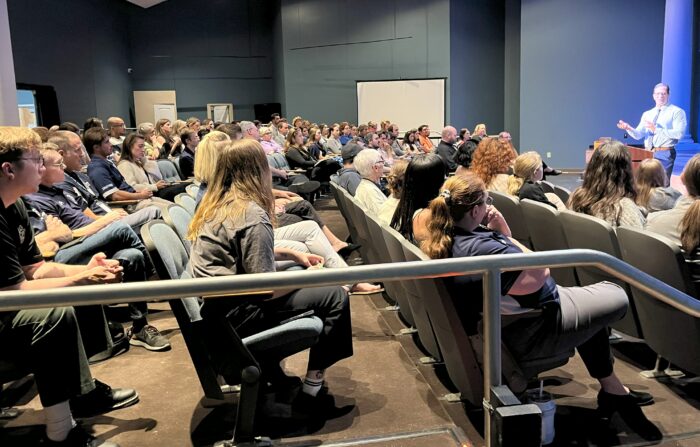
[[276,102],[275,2],[168,0],[129,21],[134,90],[175,90],[178,116],[206,117],[207,103],[232,103],[238,120]]

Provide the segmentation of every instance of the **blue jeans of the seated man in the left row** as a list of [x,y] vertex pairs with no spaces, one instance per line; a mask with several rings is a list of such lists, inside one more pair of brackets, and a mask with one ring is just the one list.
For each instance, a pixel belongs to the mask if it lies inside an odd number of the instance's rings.
[[[87,264],[99,252],[121,263],[124,282],[145,281],[151,271],[146,247],[131,227],[119,221],[86,237],[80,243],[59,249],[54,260],[62,264]],[[132,321],[145,324],[148,307],[145,302],[129,303],[129,313]]]

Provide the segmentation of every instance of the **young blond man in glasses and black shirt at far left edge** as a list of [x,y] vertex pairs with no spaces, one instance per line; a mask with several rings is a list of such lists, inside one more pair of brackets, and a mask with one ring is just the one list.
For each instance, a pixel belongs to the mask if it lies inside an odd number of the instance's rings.
[[[36,192],[41,182],[40,144],[29,129],[0,127],[0,290],[121,281],[118,262],[102,253],[87,266],[43,261],[20,200]],[[45,445],[116,445],[85,432],[73,414],[90,416],[133,405],[138,394],[92,378],[72,307],[0,312],[0,353],[34,373],[46,416]]]

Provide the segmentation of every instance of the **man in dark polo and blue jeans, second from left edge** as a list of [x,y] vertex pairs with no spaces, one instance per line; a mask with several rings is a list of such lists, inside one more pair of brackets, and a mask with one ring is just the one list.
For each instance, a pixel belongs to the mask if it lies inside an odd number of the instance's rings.
[[[152,269],[146,247],[136,233],[125,223],[119,222],[121,214],[111,211],[106,216],[94,220],[68,205],[63,192],[54,187],[64,180],[63,157],[56,150],[41,151],[45,168],[41,184],[36,193],[25,196],[30,208],[30,218],[35,231],[45,230],[44,216],[58,217],[73,232],[74,237],[84,237],[80,243],[66,249],[59,249],[54,259],[66,264],[81,264],[97,252],[119,260],[124,268],[124,280],[146,281],[147,272]],[[142,346],[150,351],[163,351],[170,348],[170,342],[158,329],[148,324],[146,303],[129,303],[133,326],[129,343]]]

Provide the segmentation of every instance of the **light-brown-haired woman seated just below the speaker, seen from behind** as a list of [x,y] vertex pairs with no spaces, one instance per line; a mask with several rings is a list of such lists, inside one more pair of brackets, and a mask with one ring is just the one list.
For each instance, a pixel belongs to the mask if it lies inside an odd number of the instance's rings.
[[666,170],[655,158],[642,160],[634,173],[634,184],[637,188],[637,205],[650,213],[673,208],[682,195],[672,186],[665,186],[668,184]]

